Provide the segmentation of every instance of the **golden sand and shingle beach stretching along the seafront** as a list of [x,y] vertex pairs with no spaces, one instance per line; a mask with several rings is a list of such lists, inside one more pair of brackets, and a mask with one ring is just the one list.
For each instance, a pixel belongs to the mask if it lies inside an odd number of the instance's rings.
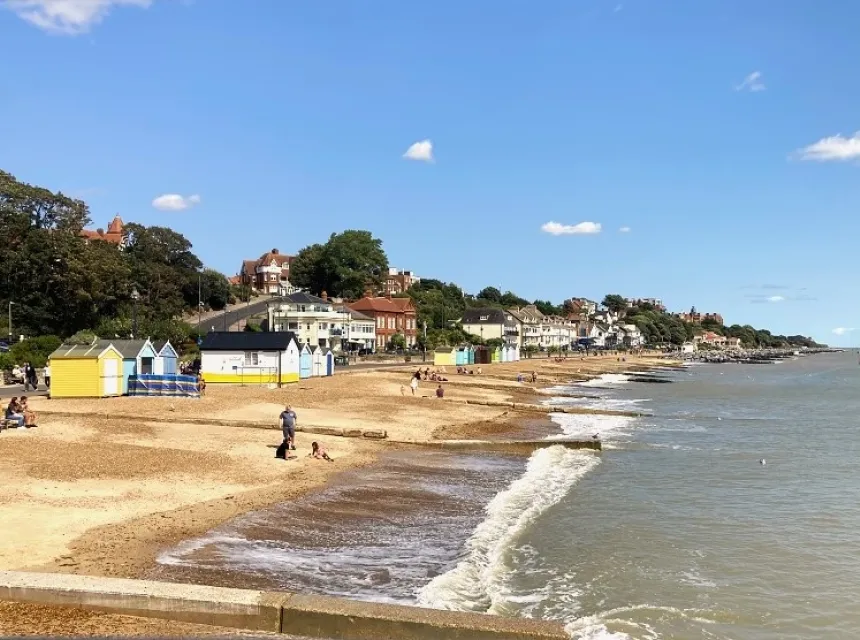
[[[32,403],[38,428],[0,434],[0,482],[7,487],[0,494],[0,531],[6,534],[0,569],[140,577],[159,550],[322,487],[333,474],[373,463],[398,441],[488,437],[545,420],[468,400],[539,403],[547,397],[541,388],[654,364],[654,358],[603,356],[484,365],[481,375],[457,375],[448,367],[443,400],[430,381],[412,395],[408,383],[417,364],[281,389],[210,386],[200,400],[38,398]],[[517,382],[518,373],[532,371],[536,384]],[[297,459],[277,460],[277,418],[286,404],[300,427],[384,429],[388,440],[300,432]],[[215,424],[219,420],[257,428]],[[335,462],[308,458],[312,440]],[[202,633],[195,625],[141,626],[136,619],[86,612],[76,612],[80,624],[66,624],[48,612],[0,603],[0,633]],[[48,619],[54,620],[50,627]]]

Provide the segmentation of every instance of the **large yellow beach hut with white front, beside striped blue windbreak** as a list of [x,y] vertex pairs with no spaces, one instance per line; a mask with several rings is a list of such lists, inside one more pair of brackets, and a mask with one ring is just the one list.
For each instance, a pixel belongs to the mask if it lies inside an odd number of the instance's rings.
[[122,394],[122,361],[108,340],[64,344],[51,354],[52,398],[105,398]]

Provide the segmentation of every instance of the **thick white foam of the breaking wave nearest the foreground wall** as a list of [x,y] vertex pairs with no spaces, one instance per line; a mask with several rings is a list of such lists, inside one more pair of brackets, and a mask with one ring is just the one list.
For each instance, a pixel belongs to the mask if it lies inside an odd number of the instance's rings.
[[598,464],[594,454],[564,447],[532,454],[525,474],[487,505],[487,518],[466,541],[466,557],[421,589],[418,604],[494,613],[505,602],[507,560],[517,538]]

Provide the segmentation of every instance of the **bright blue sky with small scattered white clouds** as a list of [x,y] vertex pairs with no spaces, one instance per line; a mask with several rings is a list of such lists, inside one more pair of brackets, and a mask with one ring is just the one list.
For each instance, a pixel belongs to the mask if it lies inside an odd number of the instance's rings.
[[171,226],[228,275],[369,229],[467,291],[860,339],[860,3],[0,7],[0,167],[94,226]]

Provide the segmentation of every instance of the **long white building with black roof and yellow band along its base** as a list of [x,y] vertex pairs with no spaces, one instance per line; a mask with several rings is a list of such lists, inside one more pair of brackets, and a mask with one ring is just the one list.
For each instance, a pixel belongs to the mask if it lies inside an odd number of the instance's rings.
[[211,331],[200,345],[200,373],[212,384],[298,382],[299,345],[289,331]]

